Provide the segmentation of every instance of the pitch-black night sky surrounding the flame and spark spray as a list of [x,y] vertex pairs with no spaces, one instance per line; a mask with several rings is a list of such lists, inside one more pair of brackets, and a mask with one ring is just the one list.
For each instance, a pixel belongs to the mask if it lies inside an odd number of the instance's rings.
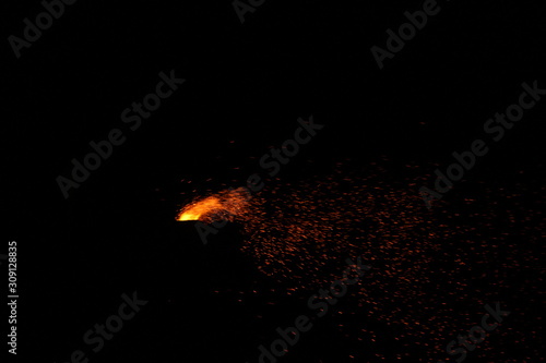
[[[385,31],[396,29],[420,1],[265,1],[240,24],[229,1],[80,0],[20,59],[4,40],[4,241],[20,244],[17,359],[67,361],[83,348],[83,332],[117,307],[121,292],[164,301],[182,295],[178,283],[188,295],[199,290],[199,264],[189,256],[200,250],[178,246],[170,235],[180,227],[174,226],[180,193],[192,196],[180,180],[202,190],[242,184],[259,170],[260,156],[293,136],[298,118],[312,114],[325,128],[280,178],[327,172],[347,158],[366,168],[387,156],[392,168],[430,165],[424,170],[431,184],[431,165],[448,166],[452,152],[483,138],[484,122],[518,100],[523,82],[538,80],[546,88],[543,4],[439,4],[440,13],[382,70],[370,47],[384,48]],[[21,36],[23,20],[41,11],[39,1],[2,3],[4,39]],[[186,83],[130,131],[121,112],[170,70]],[[507,131],[465,180],[541,185],[545,102]],[[68,177],[71,159],[82,160],[91,141],[116,128],[124,144],[64,199],[56,178]],[[306,169],[309,162],[314,169]],[[191,232],[182,234],[190,239]],[[209,308],[187,304],[198,315]],[[180,346],[164,340],[201,323],[162,306],[151,302],[151,313],[138,317],[140,328],[128,325],[90,362],[252,356],[254,348],[234,349],[237,342],[226,342],[233,350],[221,354],[228,348],[202,336]],[[170,322],[188,314],[191,324],[177,330],[154,314]],[[245,314],[234,315],[235,323],[210,320],[224,334],[229,324],[252,325]],[[195,331],[211,329],[201,324]],[[204,354],[209,349],[217,355]],[[154,353],[157,360],[145,359]],[[335,361],[330,353],[301,354],[309,362]]]

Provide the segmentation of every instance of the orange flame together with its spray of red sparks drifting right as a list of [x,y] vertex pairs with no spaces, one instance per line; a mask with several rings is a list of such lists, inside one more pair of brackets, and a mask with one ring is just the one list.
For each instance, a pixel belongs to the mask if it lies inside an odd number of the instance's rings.
[[[419,177],[400,178],[401,171],[393,176],[376,167],[365,177],[340,170],[298,183],[272,182],[252,197],[241,190],[222,191],[190,203],[179,220],[240,223],[241,251],[285,287],[281,294],[305,295],[340,279],[344,258],[363,256],[372,269],[349,292],[353,305],[336,315],[339,329],[378,352],[389,341],[408,352],[417,347],[419,359],[447,359],[446,344],[479,323],[485,303],[506,300],[508,291],[536,305],[537,294],[544,299],[544,255],[536,251],[542,251],[545,222],[524,204],[532,198],[525,185],[476,183],[474,192],[451,192],[450,202],[438,202],[430,211],[417,191],[426,176],[415,166],[404,172]],[[538,199],[545,190],[533,193]],[[511,308],[520,310],[518,315],[524,306]],[[366,318],[354,320],[355,313]],[[370,320],[376,323],[368,326]],[[389,337],[381,336],[384,329]],[[541,340],[541,331],[536,324],[518,341]],[[515,332],[498,329],[495,335],[496,346],[484,343],[472,355],[490,359]],[[389,356],[402,359],[376,354]]]

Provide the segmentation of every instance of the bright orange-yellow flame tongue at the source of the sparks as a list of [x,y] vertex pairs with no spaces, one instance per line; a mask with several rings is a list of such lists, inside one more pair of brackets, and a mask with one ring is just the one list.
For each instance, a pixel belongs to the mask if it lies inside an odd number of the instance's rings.
[[233,221],[248,210],[249,199],[250,194],[244,187],[222,191],[188,204],[180,210],[177,220]]

